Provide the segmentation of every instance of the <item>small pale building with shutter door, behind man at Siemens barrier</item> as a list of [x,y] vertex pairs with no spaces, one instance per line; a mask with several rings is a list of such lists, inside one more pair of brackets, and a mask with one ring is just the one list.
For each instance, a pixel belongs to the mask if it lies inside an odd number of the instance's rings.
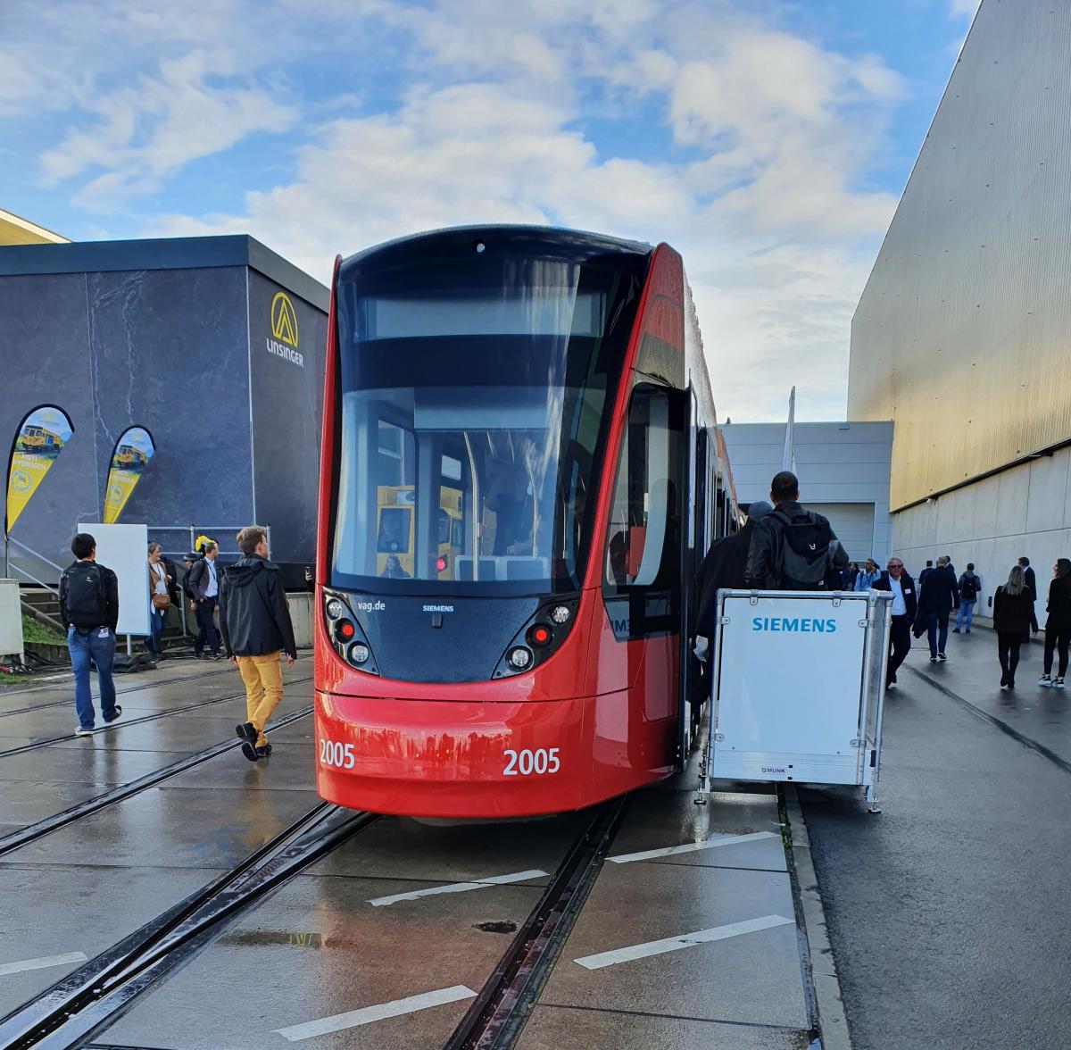
[[[784,423],[727,423],[737,499],[770,498],[770,480],[781,469]],[[848,558],[873,557],[885,567],[892,544],[889,475],[892,423],[796,423],[793,429],[800,502],[825,514]],[[917,574],[922,566],[908,566]]]

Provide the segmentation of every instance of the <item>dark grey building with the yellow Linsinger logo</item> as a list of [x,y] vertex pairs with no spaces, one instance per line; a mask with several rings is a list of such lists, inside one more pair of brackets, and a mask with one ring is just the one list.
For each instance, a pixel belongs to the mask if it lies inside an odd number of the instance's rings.
[[42,559],[70,561],[135,424],[156,453],[121,522],[205,526],[223,551],[256,522],[274,559],[312,562],[327,309],[323,285],[244,236],[0,248],[0,441],[42,404],[74,424],[12,530],[13,564],[49,579]]

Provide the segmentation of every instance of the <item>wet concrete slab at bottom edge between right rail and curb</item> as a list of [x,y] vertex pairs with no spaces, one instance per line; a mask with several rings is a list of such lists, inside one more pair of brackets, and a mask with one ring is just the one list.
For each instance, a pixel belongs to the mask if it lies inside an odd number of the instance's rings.
[[793,1029],[541,1004],[532,1010],[516,1050],[806,1050],[809,1046],[808,1034]]

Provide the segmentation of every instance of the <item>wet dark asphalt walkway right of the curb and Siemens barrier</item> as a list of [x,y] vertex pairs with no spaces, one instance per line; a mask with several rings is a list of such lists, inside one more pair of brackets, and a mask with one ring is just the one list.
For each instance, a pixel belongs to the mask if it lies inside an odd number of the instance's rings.
[[[1027,651],[1027,650],[1024,650]],[[908,665],[1071,759],[1041,646],[999,688],[992,632]],[[856,1050],[1071,1046],[1071,774],[910,671],[888,694],[884,812],[800,792]]]

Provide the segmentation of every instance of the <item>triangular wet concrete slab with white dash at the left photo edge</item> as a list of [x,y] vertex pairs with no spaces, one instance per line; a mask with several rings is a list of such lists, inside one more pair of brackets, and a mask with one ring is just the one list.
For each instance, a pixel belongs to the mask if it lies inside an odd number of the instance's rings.
[[[0,964],[74,951],[92,958],[213,874],[203,869],[0,866]],[[0,1016],[77,966],[70,962],[0,976]]]

